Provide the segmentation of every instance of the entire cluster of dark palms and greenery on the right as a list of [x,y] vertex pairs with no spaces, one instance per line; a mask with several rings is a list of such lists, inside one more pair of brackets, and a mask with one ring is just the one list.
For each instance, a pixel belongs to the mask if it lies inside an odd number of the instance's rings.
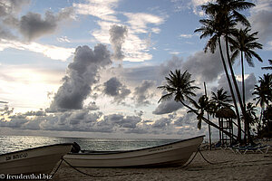
[[[255,6],[253,3],[245,0],[215,0],[209,2],[207,5],[201,6],[207,18],[199,20],[201,26],[195,30],[195,33],[201,33],[200,39],[209,37],[204,52],[209,50],[214,53],[219,49],[231,96],[228,96],[227,91],[221,88],[217,92],[211,92],[210,100],[207,95],[200,96],[198,101],[193,100],[193,97],[196,96],[195,90],[199,87],[192,85],[194,81],[190,80],[191,75],[188,71],[181,73],[180,70],[170,71],[169,77],[165,78],[167,83],[158,87],[167,91],[167,94],[163,95],[159,101],[171,98],[180,101],[184,107],[189,109],[188,112],[197,115],[199,129],[201,129],[201,122],[204,121],[210,126],[222,130],[217,124],[209,120],[209,117],[208,119],[205,118],[205,112],[214,116],[219,110],[229,110],[234,107],[236,115],[232,115],[232,118],[237,117],[238,119],[237,124],[235,123],[238,127],[238,134],[236,136],[231,135],[228,131],[222,131],[228,137],[237,138],[240,143],[242,143],[242,132],[245,133],[244,140],[252,141],[252,130],[257,130],[258,137],[272,137],[272,106],[270,105],[272,101],[272,74],[267,73],[259,78],[252,93],[255,96],[253,100],[257,101],[256,104],[246,102],[244,59],[249,66],[254,66],[253,58],[263,62],[262,58],[255,52],[255,49],[262,49],[262,44],[257,43],[257,32],[250,32],[250,24],[247,18],[238,11],[253,6]],[[238,24],[244,25],[245,28],[238,30]],[[225,51],[223,51],[223,43],[225,43]],[[242,70],[242,93],[238,90],[236,74],[232,67],[233,62],[238,59],[238,55],[240,55]],[[268,62],[269,64],[272,63],[271,60],[268,60]],[[271,66],[262,67],[262,69],[271,70]],[[230,104],[231,102],[233,105]],[[257,115],[258,106],[261,108],[259,118]],[[241,112],[241,115],[239,112]],[[244,122],[245,131],[242,130],[241,120]]]

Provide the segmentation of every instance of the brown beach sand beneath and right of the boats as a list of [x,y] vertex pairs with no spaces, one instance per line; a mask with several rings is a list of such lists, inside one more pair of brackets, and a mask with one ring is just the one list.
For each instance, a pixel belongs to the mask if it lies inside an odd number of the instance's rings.
[[[87,180],[272,180],[272,148],[268,154],[235,154],[231,150],[205,150],[198,153],[188,167],[160,168],[79,168],[84,176],[72,167],[62,164],[54,181]],[[193,154],[194,155],[194,154]]]

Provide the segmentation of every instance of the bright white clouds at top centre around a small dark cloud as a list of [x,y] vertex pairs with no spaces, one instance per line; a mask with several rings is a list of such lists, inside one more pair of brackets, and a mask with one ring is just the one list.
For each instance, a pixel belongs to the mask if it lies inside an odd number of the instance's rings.
[[[117,12],[115,8],[118,3],[118,0],[90,0],[87,4],[73,4],[73,7],[76,14],[88,14],[99,18],[97,24],[100,29],[92,31],[92,36],[100,43],[111,43],[109,30],[112,25],[119,23],[119,26],[127,27],[126,41],[121,46],[113,47],[113,49],[117,48],[116,50],[122,51],[122,53],[117,52],[124,56],[124,58],[121,56],[123,61],[143,62],[151,60],[152,55],[149,53],[151,43],[147,43],[140,35],[142,33],[160,33],[160,28],[157,26],[164,23],[165,17],[154,14]],[[117,14],[126,16],[128,21],[120,24]]]

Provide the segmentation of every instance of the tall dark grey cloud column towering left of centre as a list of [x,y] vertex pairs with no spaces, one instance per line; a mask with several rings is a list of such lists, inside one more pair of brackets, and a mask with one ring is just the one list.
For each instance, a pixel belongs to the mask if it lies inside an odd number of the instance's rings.
[[94,49],[77,47],[73,62],[68,65],[63,85],[54,95],[49,110],[79,110],[83,100],[91,92],[91,86],[99,80],[99,71],[111,64],[110,52],[106,46],[98,44]]

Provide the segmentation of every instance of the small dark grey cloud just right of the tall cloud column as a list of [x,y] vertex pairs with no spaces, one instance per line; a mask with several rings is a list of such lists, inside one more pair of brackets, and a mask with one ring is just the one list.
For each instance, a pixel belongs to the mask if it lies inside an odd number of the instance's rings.
[[120,103],[131,93],[131,90],[127,89],[116,77],[112,77],[104,83],[103,93],[112,96],[115,102]]

